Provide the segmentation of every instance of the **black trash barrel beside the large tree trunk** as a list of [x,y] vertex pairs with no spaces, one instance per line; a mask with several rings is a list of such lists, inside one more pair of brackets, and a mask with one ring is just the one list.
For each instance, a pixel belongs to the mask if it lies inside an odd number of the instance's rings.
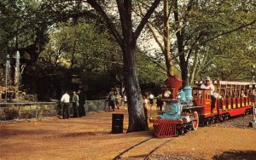
[[122,134],[124,125],[124,114],[112,114],[112,133]]

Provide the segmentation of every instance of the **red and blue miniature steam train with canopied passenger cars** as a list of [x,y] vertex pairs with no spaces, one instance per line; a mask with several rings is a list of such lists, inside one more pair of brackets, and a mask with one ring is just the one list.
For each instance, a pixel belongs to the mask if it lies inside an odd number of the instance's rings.
[[[201,82],[196,87],[186,86],[180,89],[182,81],[178,77],[168,77],[163,89],[166,102],[164,111],[160,111],[154,123],[154,136],[170,137],[184,134],[191,129],[215,122],[223,122],[230,117],[245,115],[253,111],[254,96],[249,96],[255,90],[255,84],[227,81],[212,81],[219,94],[212,100],[209,89],[201,89]],[[179,91],[178,91],[179,90]],[[244,95],[241,96],[242,91]],[[214,108],[212,107],[214,106]]]

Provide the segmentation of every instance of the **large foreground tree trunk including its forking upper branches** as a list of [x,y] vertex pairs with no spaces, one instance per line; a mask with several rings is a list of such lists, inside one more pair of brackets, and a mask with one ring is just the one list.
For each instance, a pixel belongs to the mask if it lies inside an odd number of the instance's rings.
[[147,13],[138,24],[136,31],[133,31],[131,19],[132,1],[116,0],[119,9],[119,18],[121,22],[122,35],[113,26],[113,20],[108,18],[108,14],[102,9],[99,3],[95,0],[87,0],[91,7],[96,9],[99,14],[102,14],[103,19],[106,20],[109,31],[115,37],[117,43],[122,49],[124,61],[124,75],[125,75],[125,90],[127,92],[128,112],[129,112],[129,127],[127,132],[136,132],[148,130],[148,123],[145,121],[145,114],[143,110],[142,93],[137,78],[137,60],[136,60],[136,43],[137,38],[143,31],[143,27],[148,22],[154,9],[160,3],[160,0],[154,0],[149,7]]

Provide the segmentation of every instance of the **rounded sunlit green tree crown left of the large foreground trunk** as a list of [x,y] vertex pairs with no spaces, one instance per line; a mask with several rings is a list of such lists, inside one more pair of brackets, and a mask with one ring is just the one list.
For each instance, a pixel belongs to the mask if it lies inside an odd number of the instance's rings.
[[86,23],[59,24],[41,54],[53,66],[72,66],[87,73],[108,71],[119,63],[120,56],[118,45],[108,32]]

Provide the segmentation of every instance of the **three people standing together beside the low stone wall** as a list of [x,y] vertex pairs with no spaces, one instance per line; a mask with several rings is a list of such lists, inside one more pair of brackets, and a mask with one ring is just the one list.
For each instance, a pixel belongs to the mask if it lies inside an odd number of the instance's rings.
[[65,94],[61,97],[61,108],[62,108],[62,117],[63,119],[67,119],[70,117],[69,107],[72,105],[73,108],[73,117],[83,117],[85,116],[84,106],[81,104],[81,100],[79,100],[80,91],[73,91],[72,97],[65,92]]

